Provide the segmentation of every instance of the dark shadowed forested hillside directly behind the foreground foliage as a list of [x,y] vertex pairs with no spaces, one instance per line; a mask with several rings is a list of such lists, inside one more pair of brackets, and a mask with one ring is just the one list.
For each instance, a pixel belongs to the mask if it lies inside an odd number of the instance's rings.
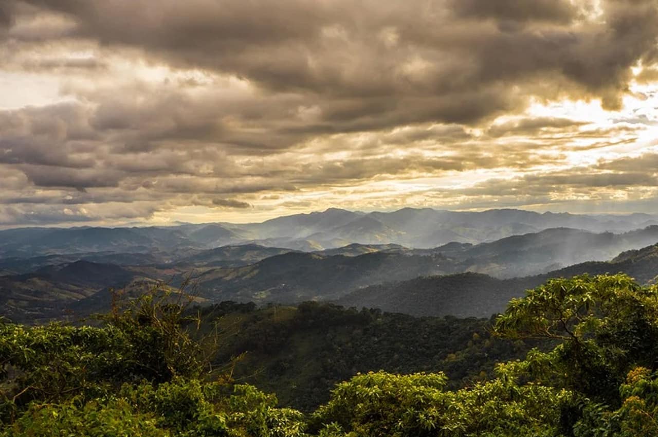
[[222,344],[215,363],[240,357],[234,377],[309,411],[357,373],[444,371],[457,388],[491,376],[497,361],[521,358],[538,342],[493,338],[489,319],[417,318],[377,309],[305,302],[297,307],[224,302],[203,307]]

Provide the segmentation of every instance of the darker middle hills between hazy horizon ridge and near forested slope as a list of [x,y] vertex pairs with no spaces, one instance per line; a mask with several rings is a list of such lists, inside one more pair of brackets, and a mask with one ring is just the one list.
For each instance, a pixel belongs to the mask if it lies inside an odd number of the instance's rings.
[[[191,278],[199,301],[297,303],[336,301],[346,307],[376,307],[411,315],[489,317],[512,297],[551,277],[625,272],[642,283],[658,274],[658,245],[620,253],[611,261],[587,261],[544,274],[494,278],[459,272],[438,253],[380,251],[358,256],[290,252],[236,268],[207,269],[195,276],[176,269],[119,267],[76,261],[36,272],[0,276],[0,312],[12,319],[86,316],[109,308],[110,290],[128,296]],[[166,285],[168,284],[168,285]]]

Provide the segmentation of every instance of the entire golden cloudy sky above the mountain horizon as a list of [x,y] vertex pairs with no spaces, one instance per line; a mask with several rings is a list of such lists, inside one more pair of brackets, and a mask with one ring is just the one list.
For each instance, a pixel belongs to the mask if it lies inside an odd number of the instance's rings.
[[658,211],[658,0],[1,0],[0,226]]

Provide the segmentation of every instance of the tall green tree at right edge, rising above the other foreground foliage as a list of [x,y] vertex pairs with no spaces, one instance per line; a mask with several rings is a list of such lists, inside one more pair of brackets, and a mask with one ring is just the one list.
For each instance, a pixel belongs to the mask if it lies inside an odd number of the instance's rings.
[[549,280],[511,301],[495,331],[559,340],[548,355],[535,355],[534,376],[618,405],[626,373],[658,359],[658,290],[622,274]]

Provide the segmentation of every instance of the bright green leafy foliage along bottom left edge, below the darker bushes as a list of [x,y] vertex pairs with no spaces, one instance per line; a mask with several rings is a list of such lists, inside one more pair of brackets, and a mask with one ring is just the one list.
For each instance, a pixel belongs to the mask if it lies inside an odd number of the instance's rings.
[[226,384],[176,377],[86,402],[32,403],[0,436],[301,437],[302,419],[252,386],[227,394]]

